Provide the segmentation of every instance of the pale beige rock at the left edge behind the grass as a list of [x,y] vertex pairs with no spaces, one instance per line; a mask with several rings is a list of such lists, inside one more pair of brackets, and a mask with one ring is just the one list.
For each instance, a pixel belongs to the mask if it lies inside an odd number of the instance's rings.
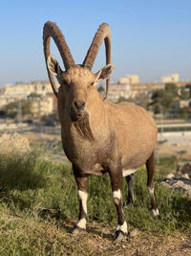
[[28,139],[18,133],[5,133],[0,137],[0,154],[23,154],[30,150]]

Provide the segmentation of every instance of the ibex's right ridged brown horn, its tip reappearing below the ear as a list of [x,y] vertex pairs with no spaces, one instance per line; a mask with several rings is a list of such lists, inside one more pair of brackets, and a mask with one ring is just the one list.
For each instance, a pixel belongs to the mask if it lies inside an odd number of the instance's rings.
[[[99,26],[99,28],[96,32],[96,35],[92,41],[92,44],[88,50],[86,58],[83,61],[82,65],[84,67],[87,67],[90,70],[92,69],[95,59],[96,59],[96,55],[98,53],[98,50],[101,46],[103,39],[105,41],[106,64],[111,63],[111,48],[112,48],[111,30],[110,30],[110,26],[107,23],[102,23]],[[110,84],[110,78],[106,81],[105,99],[107,99],[107,97],[108,97],[109,84]]]

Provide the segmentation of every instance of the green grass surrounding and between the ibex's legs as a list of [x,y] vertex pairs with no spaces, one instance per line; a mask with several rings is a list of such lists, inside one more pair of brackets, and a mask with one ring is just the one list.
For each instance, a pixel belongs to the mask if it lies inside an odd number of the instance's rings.
[[[141,231],[189,234],[190,200],[180,192],[159,185],[160,179],[161,175],[156,174],[155,194],[160,219],[152,217],[146,172],[141,168],[135,175],[135,203],[124,210],[126,220],[130,227]],[[117,226],[111,194],[108,176],[90,176],[89,221],[96,221],[102,226]],[[124,200],[126,195],[124,180]],[[44,152],[38,150],[22,157],[16,154],[11,157],[0,155],[0,202],[0,255],[38,255],[36,251],[39,255],[47,255],[48,252],[54,255],[62,243],[65,248],[67,244],[73,247],[66,237],[72,224],[60,231],[63,221],[71,223],[78,216],[77,191],[71,166],[51,162]]]

